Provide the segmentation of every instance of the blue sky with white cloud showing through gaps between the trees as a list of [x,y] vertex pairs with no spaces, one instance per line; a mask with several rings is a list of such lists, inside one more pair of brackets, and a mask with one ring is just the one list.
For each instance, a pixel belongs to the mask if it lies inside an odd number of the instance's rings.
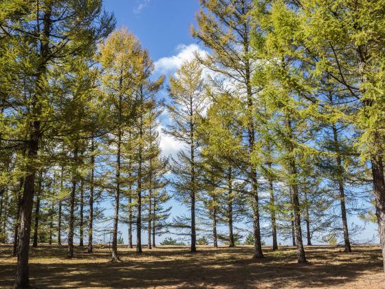
[[[154,77],[160,74],[173,74],[183,61],[193,57],[195,51],[204,51],[204,47],[190,36],[190,25],[195,23],[195,13],[199,10],[198,0],[104,0],[104,9],[115,14],[117,29],[125,26],[150,52],[155,63]],[[166,98],[166,92],[161,92],[160,96]],[[165,115],[162,118],[162,125],[166,121]],[[166,156],[174,155],[182,148],[181,144],[170,136],[161,133],[161,138],[161,147]],[[186,208],[176,202],[171,202],[171,205],[174,216],[186,212]],[[112,211],[107,210],[106,213],[109,215]],[[363,225],[358,217],[351,217],[349,225],[352,222]],[[265,225],[267,224],[261,224],[261,226]],[[360,239],[371,239],[373,235],[377,235],[375,230],[375,224],[366,224]],[[119,231],[122,232],[126,242],[126,226],[120,224]],[[157,237],[157,242],[164,237]],[[142,239],[146,240],[146,235],[143,235]],[[267,245],[271,243],[270,239],[266,241]],[[287,244],[287,242],[282,243]]]

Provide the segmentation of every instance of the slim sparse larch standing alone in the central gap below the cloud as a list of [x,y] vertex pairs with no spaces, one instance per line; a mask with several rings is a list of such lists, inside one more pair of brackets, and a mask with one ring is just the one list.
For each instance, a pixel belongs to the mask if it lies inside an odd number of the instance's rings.
[[199,143],[196,136],[197,122],[206,107],[203,94],[202,68],[197,61],[185,62],[170,76],[168,92],[171,102],[166,105],[172,125],[165,132],[188,145],[188,153],[180,151],[178,160],[173,160],[171,170],[175,179],[171,182],[181,195],[181,202],[190,204],[191,252],[196,252],[197,242],[195,203],[199,191],[197,183],[197,156]]

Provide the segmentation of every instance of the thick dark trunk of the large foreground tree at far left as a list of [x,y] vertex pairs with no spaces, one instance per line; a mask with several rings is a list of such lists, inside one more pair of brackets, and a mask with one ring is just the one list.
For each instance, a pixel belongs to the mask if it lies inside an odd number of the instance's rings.
[[[47,70],[47,56],[50,53],[50,30],[51,30],[51,7],[44,7],[43,13],[43,36],[41,40],[40,63],[38,65],[38,76],[36,77],[36,95],[43,96],[45,72]],[[41,138],[41,105],[36,97],[32,101],[32,114],[34,120],[30,121],[30,136],[26,151],[29,160],[36,160],[39,150],[39,140]],[[31,234],[31,215],[32,202],[34,199],[34,182],[36,175],[36,166],[32,162],[26,165],[26,175],[23,190],[23,205],[21,206],[21,222],[19,235],[19,250],[17,252],[17,275],[14,288],[29,288],[30,273],[28,266]]]

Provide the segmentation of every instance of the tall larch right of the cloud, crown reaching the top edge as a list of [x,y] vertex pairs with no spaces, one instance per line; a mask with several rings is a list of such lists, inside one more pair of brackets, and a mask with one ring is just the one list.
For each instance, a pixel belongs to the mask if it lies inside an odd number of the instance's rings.
[[251,47],[253,19],[252,0],[221,1],[201,0],[201,10],[197,14],[198,28],[192,28],[192,36],[202,41],[212,51],[206,56],[198,56],[199,61],[213,72],[234,83],[233,92],[241,92],[246,109],[244,129],[247,131],[247,151],[249,158],[248,178],[250,180],[255,248],[254,257],[262,258],[261,228],[259,224],[259,195],[256,167],[251,161],[256,142],[254,111],[256,92],[251,78],[256,58]]

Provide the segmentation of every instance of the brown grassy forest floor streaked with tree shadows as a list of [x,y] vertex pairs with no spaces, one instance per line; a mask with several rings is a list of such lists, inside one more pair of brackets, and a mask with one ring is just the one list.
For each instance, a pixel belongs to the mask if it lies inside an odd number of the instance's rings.
[[[32,248],[30,278],[38,288],[385,288],[379,246],[307,246],[309,264],[296,263],[296,249],[273,252],[264,247],[264,259],[252,259],[252,246],[210,248],[198,246],[144,248],[142,255],[120,246],[121,262],[109,262],[109,248],[95,253],[76,248],[65,259],[66,246],[42,244]],[[11,288],[16,268],[11,245],[0,245],[0,288]]]

